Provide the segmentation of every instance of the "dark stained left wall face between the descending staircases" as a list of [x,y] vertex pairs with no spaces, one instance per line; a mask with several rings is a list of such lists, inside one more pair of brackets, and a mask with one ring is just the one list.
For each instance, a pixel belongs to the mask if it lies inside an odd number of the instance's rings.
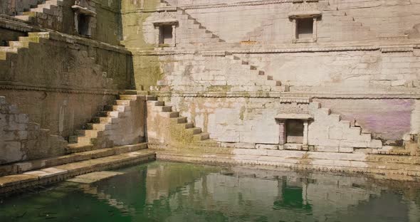
[[72,135],[113,102],[117,89],[130,88],[130,53],[121,48],[53,34],[18,43],[28,47],[0,60],[1,95],[53,134]]

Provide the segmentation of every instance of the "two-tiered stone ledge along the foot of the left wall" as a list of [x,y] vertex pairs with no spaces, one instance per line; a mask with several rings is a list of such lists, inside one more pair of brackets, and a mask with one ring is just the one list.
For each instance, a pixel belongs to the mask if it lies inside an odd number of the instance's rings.
[[[130,147],[135,147],[135,149],[130,150]],[[93,152],[51,158],[51,162],[43,160],[40,161],[44,164],[42,167],[33,166],[31,171],[0,177],[0,194],[16,193],[24,189],[53,184],[93,171],[115,169],[154,160],[155,152],[145,149],[146,147],[147,144],[142,144],[137,147],[123,146],[99,149]],[[132,152],[133,150],[136,151]]]

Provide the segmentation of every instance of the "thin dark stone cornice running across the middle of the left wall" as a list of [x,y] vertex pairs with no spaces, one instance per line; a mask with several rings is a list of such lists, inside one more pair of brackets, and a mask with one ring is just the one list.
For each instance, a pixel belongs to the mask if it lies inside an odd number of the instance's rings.
[[0,90],[28,90],[28,91],[41,91],[51,93],[72,93],[72,94],[98,94],[98,95],[118,95],[120,90],[106,90],[106,89],[94,89],[85,90],[77,88],[65,88],[58,87],[52,88],[45,85],[26,85],[23,83],[13,83],[0,81]]

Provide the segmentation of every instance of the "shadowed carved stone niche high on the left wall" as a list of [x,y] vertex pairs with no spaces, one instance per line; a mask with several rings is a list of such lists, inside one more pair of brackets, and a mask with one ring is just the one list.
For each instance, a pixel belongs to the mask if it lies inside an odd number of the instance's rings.
[[75,31],[80,36],[92,36],[93,28],[96,28],[96,12],[93,4],[90,0],[76,0],[71,6],[74,11]]

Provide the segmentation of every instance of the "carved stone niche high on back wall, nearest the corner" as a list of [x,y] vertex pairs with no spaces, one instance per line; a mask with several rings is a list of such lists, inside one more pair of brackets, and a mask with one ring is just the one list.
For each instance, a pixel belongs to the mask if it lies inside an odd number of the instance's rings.
[[178,21],[176,19],[164,19],[160,21],[154,21],[154,35],[155,35],[155,46],[175,47],[177,42],[177,31]]

